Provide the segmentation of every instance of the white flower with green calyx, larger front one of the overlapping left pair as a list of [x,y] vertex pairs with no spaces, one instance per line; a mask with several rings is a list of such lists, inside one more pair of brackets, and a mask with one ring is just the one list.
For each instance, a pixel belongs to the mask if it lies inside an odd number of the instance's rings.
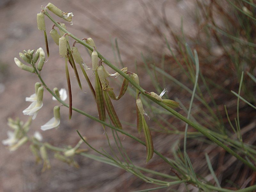
[[36,118],[38,110],[43,107],[43,93],[44,87],[39,87],[37,91],[36,101],[33,101],[28,108],[24,109],[22,113],[24,115],[33,116],[32,119]]

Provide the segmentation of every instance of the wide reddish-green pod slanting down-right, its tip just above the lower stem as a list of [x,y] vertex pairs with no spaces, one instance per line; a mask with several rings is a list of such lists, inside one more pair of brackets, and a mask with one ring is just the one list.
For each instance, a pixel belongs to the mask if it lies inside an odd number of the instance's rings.
[[116,111],[113,107],[113,104],[108,96],[108,92],[103,91],[103,97],[104,97],[104,103],[105,103],[105,107],[107,109],[108,112],[108,116],[110,117],[112,123],[118,128],[118,129],[122,129],[122,124],[119,121],[118,116],[116,115]]

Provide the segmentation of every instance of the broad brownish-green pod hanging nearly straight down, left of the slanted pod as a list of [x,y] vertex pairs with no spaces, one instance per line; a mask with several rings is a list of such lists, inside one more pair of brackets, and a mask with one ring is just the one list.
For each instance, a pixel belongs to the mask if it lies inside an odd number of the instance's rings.
[[105,105],[104,105],[104,98],[103,98],[100,78],[98,76],[97,70],[95,71],[95,96],[96,96],[96,103],[97,103],[97,108],[99,113],[99,119],[101,121],[105,121],[106,111],[105,111]]

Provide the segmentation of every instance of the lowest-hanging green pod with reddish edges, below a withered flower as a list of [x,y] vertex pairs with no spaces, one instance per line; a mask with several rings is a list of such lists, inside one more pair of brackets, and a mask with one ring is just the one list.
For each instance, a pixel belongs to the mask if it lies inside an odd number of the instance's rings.
[[154,154],[154,145],[153,145],[153,140],[151,136],[151,132],[148,128],[148,124],[146,123],[146,120],[144,116],[141,116],[142,118],[142,127],[143,127],[143,132],[146,140],[146,148],[147,148],[147,162],[153,157]]

